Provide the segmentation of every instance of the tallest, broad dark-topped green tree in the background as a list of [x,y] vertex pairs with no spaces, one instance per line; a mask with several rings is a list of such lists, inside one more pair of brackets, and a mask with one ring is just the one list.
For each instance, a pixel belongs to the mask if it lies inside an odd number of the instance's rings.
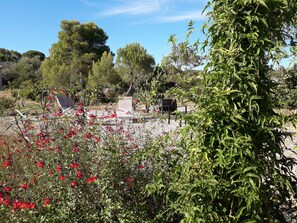
[[108,36],[92,22],[61,22],[59,41],[52,45],[50,56],[42,64],[44,81],[54,86],[82,87],[92,64],[109,52],[105,45]]

